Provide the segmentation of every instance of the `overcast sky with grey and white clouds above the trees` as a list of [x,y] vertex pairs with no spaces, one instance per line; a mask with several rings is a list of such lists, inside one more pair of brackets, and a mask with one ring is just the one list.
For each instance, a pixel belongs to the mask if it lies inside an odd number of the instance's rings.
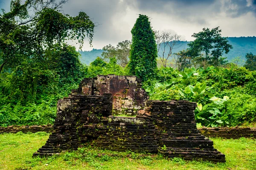
[[[0,0],[0,8],[8,11],[10,1]],[[82,48],[86,51],[131,40],[138,14],[150,17],[153,29],[187,41],[202,28],[218,26],[224,37],[256,36],[256,0],[69,0],[63,10],[71,16],[84,11],[99,23],[93,47],[87,41]]]

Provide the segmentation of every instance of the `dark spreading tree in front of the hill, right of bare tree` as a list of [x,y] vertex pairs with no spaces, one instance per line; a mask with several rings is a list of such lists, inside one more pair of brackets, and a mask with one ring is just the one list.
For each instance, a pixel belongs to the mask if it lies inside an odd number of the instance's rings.
[[221,37],[221,29],[219,27],[213,28],[203,28],[203,31],[199,33],[194,33],[192,37],[195,40],[190,42],[188,46],[192,51],[200,51],[205,53],[205,62],[210,65],[218,65],[218,59],[221,57],[223,52],[227,54],[232,45],[228,44],[227,37]]

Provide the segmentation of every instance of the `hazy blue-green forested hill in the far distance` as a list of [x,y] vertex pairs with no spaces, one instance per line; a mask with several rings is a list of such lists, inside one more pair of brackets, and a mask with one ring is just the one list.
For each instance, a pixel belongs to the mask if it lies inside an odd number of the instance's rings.
[[[234,57],[241,56],[241,59],[245,59],[246,53],[256,54],[256,37],[229,37],[229,43],[233,46],[233,49],[230,50],[228,54],[224,54],[223,57],[227,57],[230,61]],[[188,41],[182,41],[179,48],[175,48],[172,52],[176,53],[183,49],[186,49],[188,46]],[[93,49],[91,51],[79,51],[81,54],[81,62],[89,65],[93,62],[96,57],[101,57],[102,49]],[[161,51],[159,51],[159,54]],[[160,54],[161,55],[161,54]]]

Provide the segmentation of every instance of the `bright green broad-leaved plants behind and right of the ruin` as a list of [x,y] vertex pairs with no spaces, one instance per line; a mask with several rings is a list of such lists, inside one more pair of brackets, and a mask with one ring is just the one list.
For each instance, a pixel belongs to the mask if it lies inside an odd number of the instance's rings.
[[197,102],[195,119],[204,126],[236,126],[256,121],[256,72],[230,65],[160,68],[157,79],[144,83],[150,99]]

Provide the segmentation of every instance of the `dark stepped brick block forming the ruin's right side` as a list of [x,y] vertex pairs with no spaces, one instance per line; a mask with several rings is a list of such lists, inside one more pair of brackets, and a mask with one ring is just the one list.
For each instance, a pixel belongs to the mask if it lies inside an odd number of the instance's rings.
[[161,152],[168,157],[186,160],[225,161],[224,154],[213,148],[213,142],[196,129],[196,103],[189,101],[150,101],[146,111],[151,113]]

